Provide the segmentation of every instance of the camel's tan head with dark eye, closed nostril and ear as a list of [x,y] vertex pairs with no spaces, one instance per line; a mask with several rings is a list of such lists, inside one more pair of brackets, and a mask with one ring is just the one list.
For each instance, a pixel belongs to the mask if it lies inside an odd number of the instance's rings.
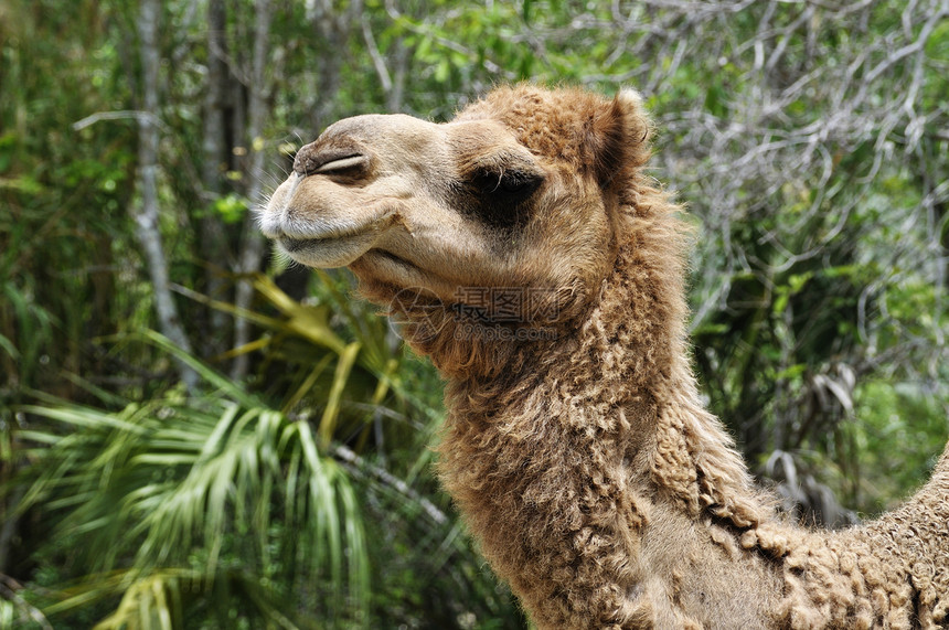
[[300,149],[262,228],[302,265],[349,267],[427,354],[459,313],[562,324],[612,266],[647,135],[632,90],[502,87],[445,124],[356,116]]

